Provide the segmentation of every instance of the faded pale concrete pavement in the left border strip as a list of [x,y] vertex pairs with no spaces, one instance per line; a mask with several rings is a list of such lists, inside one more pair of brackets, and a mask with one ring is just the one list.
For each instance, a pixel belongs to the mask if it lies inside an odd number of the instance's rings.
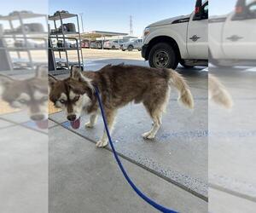
[[48,135],[26,112],[0,116],[0,208],[3,213],[48,211]]

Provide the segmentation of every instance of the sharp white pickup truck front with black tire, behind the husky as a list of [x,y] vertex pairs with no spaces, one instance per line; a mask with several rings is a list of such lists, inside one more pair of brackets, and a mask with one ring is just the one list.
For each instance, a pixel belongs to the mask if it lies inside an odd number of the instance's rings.
[[208,65],[208,1],[197,0],[192,14],[160,20],[143,32],[142,56],[152,67]]

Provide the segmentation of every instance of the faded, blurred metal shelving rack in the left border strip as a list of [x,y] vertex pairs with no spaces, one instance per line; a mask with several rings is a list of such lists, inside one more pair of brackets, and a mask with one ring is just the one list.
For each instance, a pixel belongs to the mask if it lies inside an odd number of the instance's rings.
[[[8,21],[9,22],[9,28],[10,31],[6,32],[3,31],[2,36],[0,37],[1,40],[1,46],[0,50],[2,53],[4,52],[4,55],[6,56],[7,61],[4,61],[4,63],[8,63],[6,65],[1,64],[2,67],[8,67],[4,68],[5,70],[11,70],[13,71],[15,68],[26,68],[26,69],[34,69],[35,66],[42,64],[42,62],[37,62],[32,60],[32,50],[46,50],[47,51],[47,32],[26,32],[24,20],[28,19],[35,19],[44,17],[45,23],[47,23],[47,15],[46,14],[34,14],[32,12],[19,12],[15,11],[13,14],[9,15],[3,15],[0,16],[0,21]],[[20,32],[15,32],[14,27],[14,21],[19,21],[20,23]],[[33,22],[32,22],[33,23]],[[4,29],[3,29],[4,30]],[[14,42],[18,40],[23,40],[25,45],[24,47],[9,47],[5,39],[13,39]],[[38,47],[30,47],[28,40],[42,40],[44,41],[44,47],[38,48]],[[16,52],[18,56],[18,62],[15,62],[14,59],[10,56],[10,52]],[[28,56],[28,60],[24,60],[24,57],[20,55],[20,52],[26,52]],[[47,52],[46,52],[47,54]],[[20,61],[19,61],[20,60]],[[19,66],[22,64],[23,66]],[[15,67],[16,66],[16,67]]]

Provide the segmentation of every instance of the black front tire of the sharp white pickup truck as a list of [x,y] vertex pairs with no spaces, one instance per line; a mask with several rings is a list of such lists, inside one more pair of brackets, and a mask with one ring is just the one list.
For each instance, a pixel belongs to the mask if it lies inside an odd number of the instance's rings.
[[149,66],[155,68],[176,69],[178,56],[171,45],[168,43],[157,43],[149,52]]

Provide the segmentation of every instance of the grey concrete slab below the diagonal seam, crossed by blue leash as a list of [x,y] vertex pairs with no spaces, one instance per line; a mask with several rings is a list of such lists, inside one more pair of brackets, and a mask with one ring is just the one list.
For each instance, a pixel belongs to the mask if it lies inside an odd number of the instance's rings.
[[[207,202],[121,159],[151,199],[179,212],[207,212]],[[158,212],[122,176],[112,153],[57,125],[49,130],[49,212]]]

